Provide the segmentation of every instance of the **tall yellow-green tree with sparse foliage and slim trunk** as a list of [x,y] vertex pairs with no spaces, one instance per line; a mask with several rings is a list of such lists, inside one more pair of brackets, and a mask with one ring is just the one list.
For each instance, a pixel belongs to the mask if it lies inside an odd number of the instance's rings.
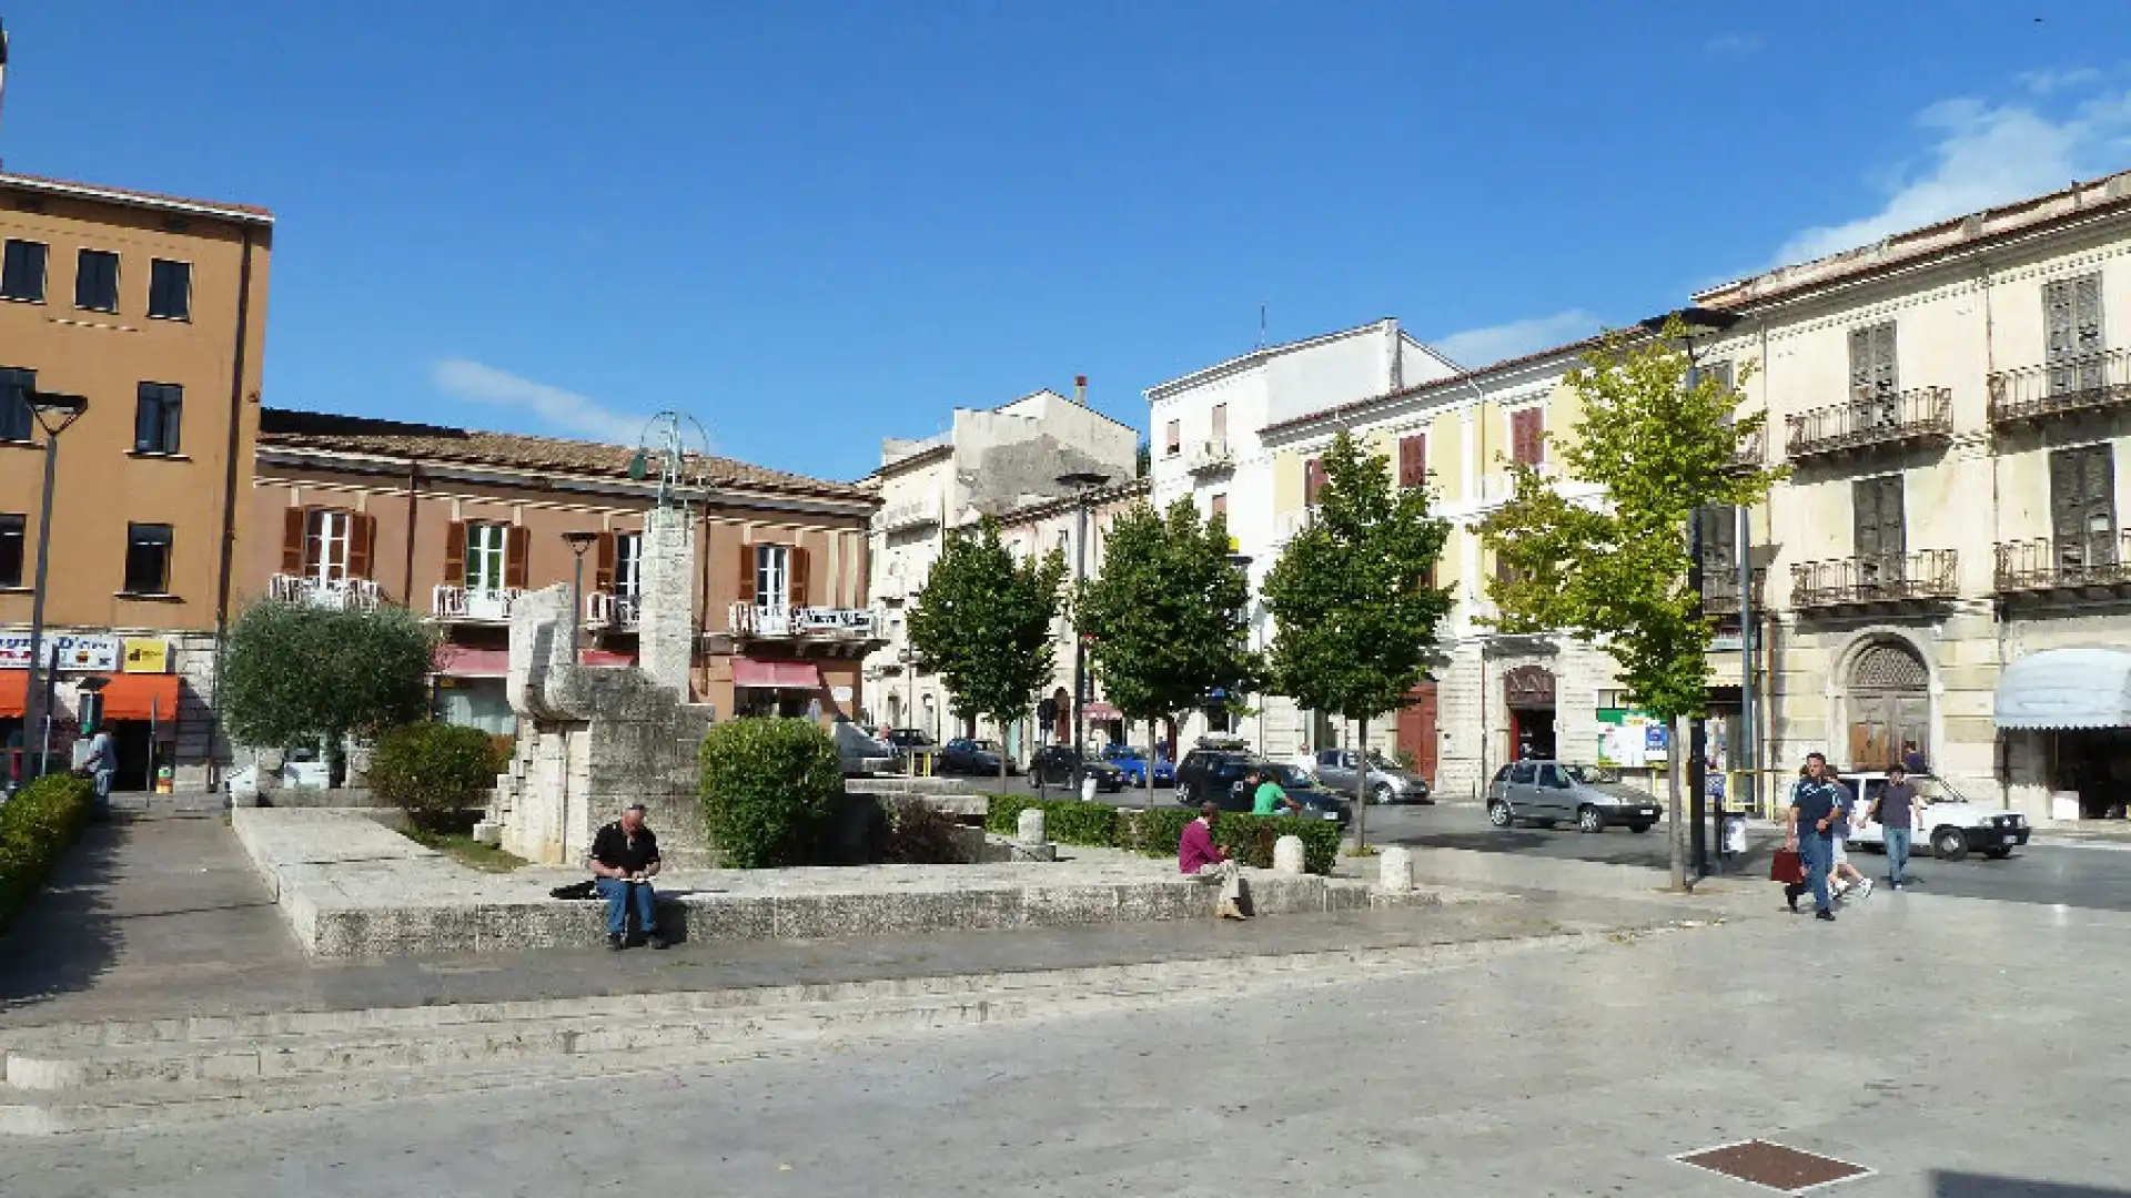
[[[1688,330],[1666,322],[1658,339],[1609,337],[1571,371],[1583,416],[1560,448],[1562,473],[1600,484],[1600,505],[1573,503],[1528,465],[1511,467],[1515,495],[1481,524],[1502,563],[1487,582],[1494,622],[1515,633],[1566,631],[1605,648],[1630,701],[1679,725],[1709,701],[1709,620],[1688,586],[1688,520],[1703,507],[1754,505],[1782,477],[1745,469],[1739,441],[1767,414],[1739,414],[1741,394],[1715,375],[1690,379],[1675,347]],[[1752,377],[1752,365],[1739,382]],[[1686,887],[1686,784],[1679,735],[1673,752],[1673,887]]]

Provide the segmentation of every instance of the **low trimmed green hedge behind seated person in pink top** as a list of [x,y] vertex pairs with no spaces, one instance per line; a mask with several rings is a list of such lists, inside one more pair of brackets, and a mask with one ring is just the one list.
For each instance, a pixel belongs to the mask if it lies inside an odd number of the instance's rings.
[[[1021,812],[1027,808],[1042,808],[1044,836],[1059,844],[1127,848],[1146,857],[1176,857],[1176,842],[1183,838],[1185,825],[1198,819],[1195,810],[1181,806],[1119,810],[1108,804],[1083,804],[1076,799],[989,795],[985,829],[1012,836],[1021,827]],[[1340,827],[1328,819],[1221,812],[1221,819],[1213,825],[1215,844],[1257,870],[1272,868],[1272,846],[1281,836],[1302,838],[1302,868],[1311,874],[1330,874],[1338,861]]]

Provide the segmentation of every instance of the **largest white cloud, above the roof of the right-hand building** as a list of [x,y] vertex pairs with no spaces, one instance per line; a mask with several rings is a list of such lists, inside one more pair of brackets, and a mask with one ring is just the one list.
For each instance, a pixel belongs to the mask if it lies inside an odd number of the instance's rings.
[[2063,119],[2024,104],[1943,100],[1918,113],[1916,124],[1937,134],[1929,168],[1897,175],[1873,215],[1799,232],[1777,252],[1775,264],[1856,249],[1892,232],[2122,168],[2131,153],[2131,92],[2095,96]]

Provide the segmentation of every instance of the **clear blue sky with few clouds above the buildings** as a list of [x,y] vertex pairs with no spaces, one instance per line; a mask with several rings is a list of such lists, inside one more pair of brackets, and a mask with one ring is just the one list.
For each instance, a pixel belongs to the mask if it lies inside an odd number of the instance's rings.
[[6,168],[275,209],[269,403],[823,477],[1076,373],[1144,428],[1259,303],[1481,365],[2131,166],[2091,0],[0,15]]

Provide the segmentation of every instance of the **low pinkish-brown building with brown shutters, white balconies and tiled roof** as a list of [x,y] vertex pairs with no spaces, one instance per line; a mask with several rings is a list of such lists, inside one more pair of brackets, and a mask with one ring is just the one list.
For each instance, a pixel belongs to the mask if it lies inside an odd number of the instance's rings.
[[[264,601],[375,608],[433,620],[437,714],[507,733],[511,603],[573,582],[586,661],[637,659],[650,475],[633,450],[586,441],[269,409],[249,503],[260,531],[245,590]],[[635,477],[633,477],[635,473]],[[880,644],[867,603],[865,488],[690,456],[695,648],[690,699],[727,716],[859,708]],[[567,535],[584,533],[580,546]]]

